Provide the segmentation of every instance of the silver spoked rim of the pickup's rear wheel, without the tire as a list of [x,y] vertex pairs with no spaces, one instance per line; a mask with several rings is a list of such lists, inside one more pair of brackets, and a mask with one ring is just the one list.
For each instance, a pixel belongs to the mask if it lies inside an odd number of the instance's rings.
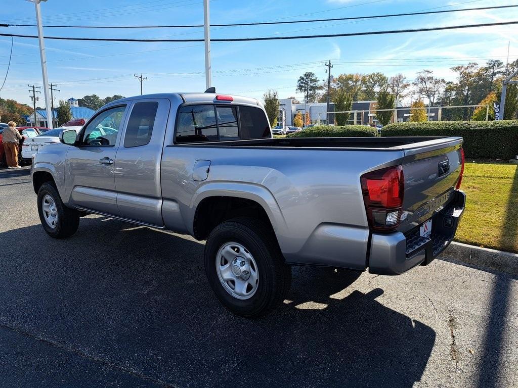
[[216,255],[216,273],[223,288],[236,299],[250,299],[257,291],[259,272],[249,250],[238,243],[226,243]]

